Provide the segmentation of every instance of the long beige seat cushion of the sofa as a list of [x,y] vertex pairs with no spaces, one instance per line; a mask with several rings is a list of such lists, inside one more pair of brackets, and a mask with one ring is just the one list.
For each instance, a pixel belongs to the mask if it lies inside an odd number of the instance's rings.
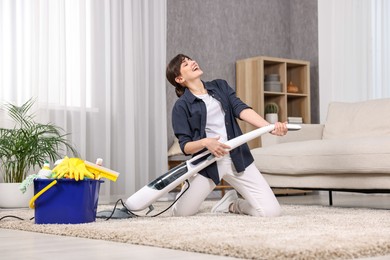
[[390,177],[390,136],[310,140],[252,149],[260,172],[309,175],[385,173]]

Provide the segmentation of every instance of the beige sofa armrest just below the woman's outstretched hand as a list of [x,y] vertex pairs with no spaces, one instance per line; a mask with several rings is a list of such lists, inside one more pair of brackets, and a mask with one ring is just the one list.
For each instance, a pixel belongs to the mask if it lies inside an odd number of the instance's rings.
[[261,136],[261,146],[266,147],[281,143],[322,139],[323,124],[302,124],[301,126],[301,130],[289,131],[285,136],[264,134]]

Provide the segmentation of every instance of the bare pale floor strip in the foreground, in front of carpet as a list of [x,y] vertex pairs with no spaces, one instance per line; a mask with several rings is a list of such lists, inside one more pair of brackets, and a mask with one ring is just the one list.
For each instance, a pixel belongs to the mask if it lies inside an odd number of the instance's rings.
[[103,240],[64,237],[0,229],[1,259],[39,260],[218,260],[231,259],[158,247],[137,246]]

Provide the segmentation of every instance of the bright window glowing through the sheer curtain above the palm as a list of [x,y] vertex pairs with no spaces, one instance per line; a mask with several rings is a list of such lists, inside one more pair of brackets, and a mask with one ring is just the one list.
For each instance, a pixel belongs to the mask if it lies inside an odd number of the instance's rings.
[[0,2],[0,98],[92,106],[91,0]]

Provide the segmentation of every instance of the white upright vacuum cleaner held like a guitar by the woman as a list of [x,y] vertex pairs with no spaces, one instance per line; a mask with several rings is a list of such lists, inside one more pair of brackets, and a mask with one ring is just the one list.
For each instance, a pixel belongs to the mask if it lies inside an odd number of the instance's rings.
[[[265,133],[269,133],[275,129],[274,124],[264,126],[233,138],[227,142],[226,145],[230,146],[230,150],[239,147],[240,145],[257,138]],[[299,130],[301,126],[294,124],[287,124],[288,130]],[[179,184],[190,178],[192,175],[195,175],[200,170],[206,168],[210,164],[222,159],[218,158],[211,154],[210,151],[205,151],[200,153],[193,158],[179,164],[178,166],[172,168],[167,173],[161,175],[154,181],[145,185],[139,191],[134,193],[129,197],[125,206],[130,211],[140,211],[149,207],[149,211],[152,210],[152,204],[161,198],[163,195],[169,191],[176,188]]]

